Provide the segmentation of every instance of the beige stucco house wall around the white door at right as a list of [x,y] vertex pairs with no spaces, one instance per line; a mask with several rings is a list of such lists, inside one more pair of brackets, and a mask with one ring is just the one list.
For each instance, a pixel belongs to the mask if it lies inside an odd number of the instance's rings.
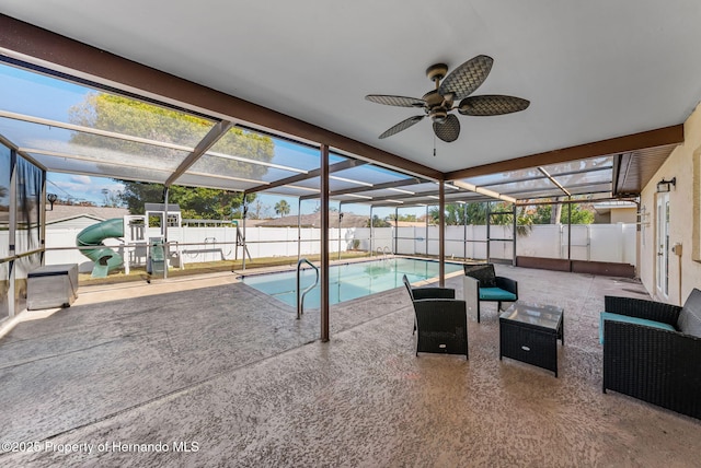
[[[685,122],[685,142],[673,151],[641,194],[640,277],[653,297],[682,304],[693,288],[701,289],[701,105]],[[669,251],[669,294],[656,290],[657,183],[676,177],[669,191],[669,246],[681,244],[681,256]]]

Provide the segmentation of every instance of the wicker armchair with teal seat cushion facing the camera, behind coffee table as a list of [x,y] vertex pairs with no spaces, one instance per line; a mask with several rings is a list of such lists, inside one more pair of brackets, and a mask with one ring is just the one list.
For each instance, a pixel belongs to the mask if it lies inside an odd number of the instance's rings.
[[493,264],[464,265],[462,292],[464,300],[478,309],[478,323],[480,302],[496,302],[497,311],[502,311],[503,302],[518,301],[518,283],[509,278],[497,277]]

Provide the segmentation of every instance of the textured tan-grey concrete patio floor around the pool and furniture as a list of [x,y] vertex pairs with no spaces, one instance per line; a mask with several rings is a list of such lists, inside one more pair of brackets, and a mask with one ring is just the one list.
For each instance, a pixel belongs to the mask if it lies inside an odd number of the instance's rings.
[[81,289],[0,339],[0,440],[35,448],[0,465],[699,466],[701,421],[601,393],[604,295],[640,283],[497,272],[564,307],[558,378],[499,361],[492,303],[466,360],[415,356],[403,288],[332,306],[327,343],[231,273]]

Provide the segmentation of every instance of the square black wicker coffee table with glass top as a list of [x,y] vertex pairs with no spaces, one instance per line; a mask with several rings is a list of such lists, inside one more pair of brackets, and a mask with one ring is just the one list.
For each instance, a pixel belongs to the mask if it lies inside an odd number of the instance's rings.
[[564,346],[563,313],[554,305],[515,302],[499,315],[503,356],[537,365],[558,376],[558,339]]

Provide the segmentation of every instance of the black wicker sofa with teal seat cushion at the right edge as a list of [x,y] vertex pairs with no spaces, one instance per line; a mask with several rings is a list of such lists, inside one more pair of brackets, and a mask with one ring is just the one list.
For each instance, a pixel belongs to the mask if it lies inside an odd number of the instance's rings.
[[701,419],[701,291],[683,307],[605,297],[604,385]]

